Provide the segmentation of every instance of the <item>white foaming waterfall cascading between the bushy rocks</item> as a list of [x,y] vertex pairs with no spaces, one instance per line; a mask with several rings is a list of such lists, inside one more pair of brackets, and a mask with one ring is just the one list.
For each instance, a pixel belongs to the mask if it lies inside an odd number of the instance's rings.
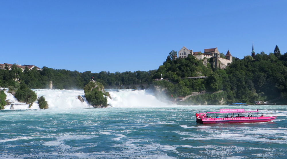
[[[48,102],[50,109],[74,109],[74,108],[91,108],[84,97],[83,90],[59,90],[59,89],[35,89],[37,97],[43,96]],[[110,107],[160,107],[166,106],[156,99],[151,92],[147,90],[108,90],[112,99],[108,98]],[[26,103],[18,102],[17,99],[5,91],[11,105],[6,105],[5,109],[39,109],[37,101],[29,108]],[[82,96],[85,101],[81,102],[77,96]]]

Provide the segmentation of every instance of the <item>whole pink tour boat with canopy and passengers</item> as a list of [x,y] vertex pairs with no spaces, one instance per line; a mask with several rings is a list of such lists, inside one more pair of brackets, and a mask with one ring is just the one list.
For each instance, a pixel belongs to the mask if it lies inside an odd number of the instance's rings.
[[[234,116],[238,114],[237,116]],[[243,114],[244,113],[244,114]],[[255,114],[256,113],[256,114]],[[265,117],[260,111],[245,111],[244,109],[220,109],[219,112],[195,113],[196,122],[200,124],[214,123],[254,123],[267,122],[277,117]],[[213,116],[210,116],[213,114]],[[228,117],[228,115],[230,115]],[[244,115],[247,115],[246,117]]]

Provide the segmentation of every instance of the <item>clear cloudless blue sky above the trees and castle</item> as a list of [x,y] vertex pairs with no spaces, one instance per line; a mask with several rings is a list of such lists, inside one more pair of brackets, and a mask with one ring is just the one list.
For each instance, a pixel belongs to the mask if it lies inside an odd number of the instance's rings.
[[287,52],[287,1],[0,0],[0,63],[157,69],[172,50]]

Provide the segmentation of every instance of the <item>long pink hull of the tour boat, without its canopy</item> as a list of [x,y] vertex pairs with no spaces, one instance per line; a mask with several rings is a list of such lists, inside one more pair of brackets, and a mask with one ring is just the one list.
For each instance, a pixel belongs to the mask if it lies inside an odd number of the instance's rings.
[[205,118],[196,119],[200,124],[215,124],[215,123],[257,123],[268,122],[277,117],[234,117],[234,118]]

